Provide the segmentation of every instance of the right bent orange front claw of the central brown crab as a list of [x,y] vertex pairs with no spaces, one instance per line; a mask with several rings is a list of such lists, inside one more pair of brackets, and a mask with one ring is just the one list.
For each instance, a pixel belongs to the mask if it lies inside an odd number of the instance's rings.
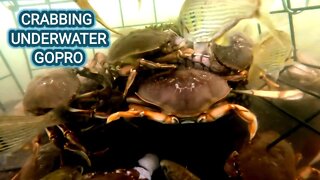
[[255,136],[258,129],[258,122],[256,116],[247,108],[237,104],[225,104],[209,110],[206,114],[198,118],[198,122],[211,122],[224,116],[229,111],[234,110],[235,113],[246,123],[248,123],[248,130],[250,133],[250,140]]

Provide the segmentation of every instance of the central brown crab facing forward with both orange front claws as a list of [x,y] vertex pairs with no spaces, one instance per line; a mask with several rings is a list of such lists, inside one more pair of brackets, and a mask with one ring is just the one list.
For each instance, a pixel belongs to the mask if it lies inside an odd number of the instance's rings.
[[[143,116],[168,124],[190,118],[197,122],[211,122],[233,110],[248,123],[252,139],[258,128],[257,118],[241,105],[223,102],[230,91],[221,76],[181,67],[147,78],[139,86],[136,97],[127,98],[130,109],[111,114],[107,122],[121,117]],[[147,108],[152,106],[154,108]]]

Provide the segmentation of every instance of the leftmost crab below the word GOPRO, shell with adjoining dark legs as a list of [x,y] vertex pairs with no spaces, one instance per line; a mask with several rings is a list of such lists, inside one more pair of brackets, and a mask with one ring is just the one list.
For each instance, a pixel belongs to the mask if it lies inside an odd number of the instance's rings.
[[101,67],[104,62],[100,61],[104,58],[102,53],[96,53],[82,70],[54,69],[35,77],[23,98],[25,111],[41,115],[56,107],[68,106],[72,101],[85,102],[102,95],[110,96],[112,77]]

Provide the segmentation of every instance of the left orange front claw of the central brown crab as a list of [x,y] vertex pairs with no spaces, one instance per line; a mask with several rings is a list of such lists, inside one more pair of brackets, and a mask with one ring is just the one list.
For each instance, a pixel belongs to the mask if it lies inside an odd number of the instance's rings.
[[163,113],[159,113],[159,112],[155,112],[147,109],[145,110],[131,109],[128,111],[119,111],[111,114],[107,119],[107,123],[116,121],[120,118],[134,118],[134,117],[147,117],[150,120],[154,120],[164,124],[176,124],[178,122],[178,119],[174,116],[169,116]]

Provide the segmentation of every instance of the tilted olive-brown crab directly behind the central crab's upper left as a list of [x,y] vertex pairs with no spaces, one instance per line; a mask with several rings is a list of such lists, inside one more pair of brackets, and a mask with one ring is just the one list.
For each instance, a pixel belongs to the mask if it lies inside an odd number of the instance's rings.
[[[191,56],[192,53],[192,49],[186,48],[184,39],[171,30],[140,29],[120,37],[112,44],[107,63],[115,76],[128,76],[123,93],[125,96],[140,66],[174,69],[179,57]],[[150,55],[155,56],[145,59]]]

